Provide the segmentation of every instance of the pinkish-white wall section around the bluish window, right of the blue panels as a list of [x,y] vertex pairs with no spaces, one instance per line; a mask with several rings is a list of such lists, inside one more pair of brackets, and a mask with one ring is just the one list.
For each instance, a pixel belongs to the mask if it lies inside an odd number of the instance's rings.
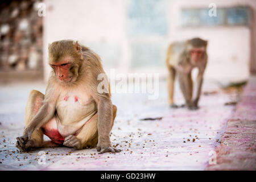
[[[250,28],[243,26],[234,27],[197,27],[183,28],[179,26],[179,11],[183,8],[205,8],[210,0],[172,1],[169,7],[170,29],[169,42],[183,40],[193,36],[200,36],[209,40],[209,62],[205,76],[212,80],[238,81],[249,76],[250,61]],[[218,7],[249,5],[256,11],[254,0],[216,0]]]

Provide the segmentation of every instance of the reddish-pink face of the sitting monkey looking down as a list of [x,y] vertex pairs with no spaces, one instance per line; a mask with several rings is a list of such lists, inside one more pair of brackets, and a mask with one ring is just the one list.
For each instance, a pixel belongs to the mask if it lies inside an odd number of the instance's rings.
[[73,74],[70,71],[71,65],[71,63],[55,63],[51,64],[51,67],[55,70],[56,77],[61,82],[69,82],[73,78]]

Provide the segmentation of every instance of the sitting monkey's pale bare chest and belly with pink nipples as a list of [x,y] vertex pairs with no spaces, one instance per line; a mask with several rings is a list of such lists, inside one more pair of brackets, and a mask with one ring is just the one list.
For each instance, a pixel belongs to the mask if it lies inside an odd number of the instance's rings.
[[[65,94],[63,99],[59,99],[56,103],[54,121],[48,122],[44,129],[45,131],[56,131],[62,137],[67,137],[81,129],[96,112],[96,103],[92,98]],[[46,134],[50,138],[51,132],[48,135]],[[53,137],[56,137],[56,135],[53,134]]]

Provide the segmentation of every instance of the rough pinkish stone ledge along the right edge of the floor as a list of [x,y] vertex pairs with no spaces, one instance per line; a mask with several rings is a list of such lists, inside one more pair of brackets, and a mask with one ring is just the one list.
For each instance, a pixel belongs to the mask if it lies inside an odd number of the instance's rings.
[[236,113],[229,119],[221,144],[216,148],[217,164],[208,170],[256,170],[256,76],[251,77]]

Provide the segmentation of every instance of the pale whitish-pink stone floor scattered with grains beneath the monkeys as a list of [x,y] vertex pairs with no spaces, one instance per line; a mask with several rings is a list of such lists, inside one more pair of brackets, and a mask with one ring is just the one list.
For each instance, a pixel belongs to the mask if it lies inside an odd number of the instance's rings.
[[[44,93],[40,82],[0,86],[0,170],[204,170],[220,144],[226,122],[234,113],[235,93],[225,93],[205,81],[200,109],[171,109],[166,81],[159,84],[159,98],[147,94],[113,94],[118,107],[112,130],[117,154],[97,154],[96,148],[40,148],[21,153],[15,138],[22,135],[24,107],[31,89]],[[176,86],[177,104],[183,103]],[[162,117],[160,120],[141,120]]]

